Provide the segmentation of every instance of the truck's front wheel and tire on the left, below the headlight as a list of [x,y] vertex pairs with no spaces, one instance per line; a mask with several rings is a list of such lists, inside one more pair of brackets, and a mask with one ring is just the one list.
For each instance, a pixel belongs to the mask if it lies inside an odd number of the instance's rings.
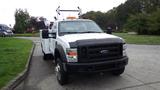
[[63,65],[60,61],[60,58],[57,58],[57,64],[56,64],[56,77],[57,81],[60,85],[65,85],[68,83],[68,75],[63,69]]

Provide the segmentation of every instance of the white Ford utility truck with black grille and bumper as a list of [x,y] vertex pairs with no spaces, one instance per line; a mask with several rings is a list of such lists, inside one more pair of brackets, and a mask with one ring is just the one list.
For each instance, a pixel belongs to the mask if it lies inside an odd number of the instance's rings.
[[120,75],[128,64],[125,41],[104,33],[92,20],[56,20],[51,29],[40,31],[40,37],[44,59],[54,57],[61,85],[73,73]]

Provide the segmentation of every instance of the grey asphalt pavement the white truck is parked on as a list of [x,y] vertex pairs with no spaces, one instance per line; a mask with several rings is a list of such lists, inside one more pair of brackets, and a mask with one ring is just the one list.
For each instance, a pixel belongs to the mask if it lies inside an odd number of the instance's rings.
[[33,40],[36,47],[29,75],[16,90],[160,90],[160,45],[128,44],[129,64],[119,77],[109,73],[76,75],[61,86],[52,61],[42,58],[39,38],[27,39]]

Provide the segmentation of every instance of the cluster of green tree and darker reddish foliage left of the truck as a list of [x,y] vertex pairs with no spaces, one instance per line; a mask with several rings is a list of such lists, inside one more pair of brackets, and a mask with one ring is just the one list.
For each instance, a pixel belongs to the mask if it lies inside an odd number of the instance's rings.
[[30,16],[27,10],[17,9],[15,11],[15,32],[16,33],[33,33],[38,32],[41,27],[44,27],[44,17]]

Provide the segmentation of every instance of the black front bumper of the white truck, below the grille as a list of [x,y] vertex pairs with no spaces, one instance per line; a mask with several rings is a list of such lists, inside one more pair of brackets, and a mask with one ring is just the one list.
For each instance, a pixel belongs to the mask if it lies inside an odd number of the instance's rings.
[[116,70],[125,67],[128,64],[128,57],[121,59],[94,63],[63,63],[64,70],[68,73],[91,73],[91,72],[105,72]]

